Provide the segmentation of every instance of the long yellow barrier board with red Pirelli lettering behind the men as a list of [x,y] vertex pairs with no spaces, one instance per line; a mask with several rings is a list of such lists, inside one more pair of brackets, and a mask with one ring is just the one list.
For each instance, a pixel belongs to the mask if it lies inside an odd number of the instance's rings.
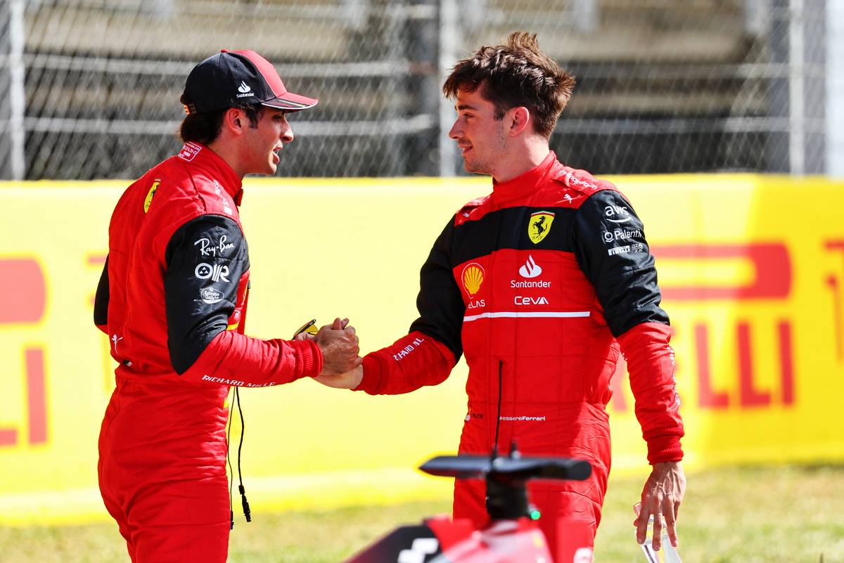
[[[647,228],[674,327],[686,465],[844,460],[844,185],[757,175],[612,178]],[[125,184],[0,187],[0,525],[107,517],[97,436],[113,387],[92,299]],[[406,334],[419,266],[483,179],[247,180],[247,333],[289,337],[349,316],[363,351]],[[809,197],[810,196],[810,197]],[[453,452],[463,362],[396,397],[311,380],[241,394],[256,510],[445,497],[414,471]],[[647,472],[623,367],[614,471]],[[235,422],[235,428],[238,425]]]

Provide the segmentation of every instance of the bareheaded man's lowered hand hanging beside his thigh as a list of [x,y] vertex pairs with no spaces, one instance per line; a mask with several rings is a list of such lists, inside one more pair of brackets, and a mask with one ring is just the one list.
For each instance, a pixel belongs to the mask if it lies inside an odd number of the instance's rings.
[[641,512],[633,522],[636,540],[645,543],[647,521],[653,515],[653,549],[662,547],[663,519],[668,527],[668,539],[677,547],[677,512],[685,495],[685,474],[679,461],[653,464],[651,475],[641,491]]

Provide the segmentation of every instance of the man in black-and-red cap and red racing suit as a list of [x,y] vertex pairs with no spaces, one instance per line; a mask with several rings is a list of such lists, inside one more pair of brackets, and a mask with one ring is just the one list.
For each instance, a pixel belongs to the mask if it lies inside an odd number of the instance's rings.
[[225,561],[230,386],[268,387],[360,364],[348,319],[316,337],[244,334],[246,174],[273,174],[286,114],[317,105],[254,51],[222,51],[187,77],[181,151],[129,186],[109,227],[95,324],[116,389],[100,431],[100,492],[133,563]]

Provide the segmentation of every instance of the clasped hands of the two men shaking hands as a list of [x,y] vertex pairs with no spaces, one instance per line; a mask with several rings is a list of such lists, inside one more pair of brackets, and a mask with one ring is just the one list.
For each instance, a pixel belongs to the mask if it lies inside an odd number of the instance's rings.
[[322,371],[315,379],[328,387],[354,389],[364,375],[354,326],[349,325],[349,319],[338,318],[316,330],[315,322],[306,324],[294,335],[295,340],[312,340],[322,351]]

